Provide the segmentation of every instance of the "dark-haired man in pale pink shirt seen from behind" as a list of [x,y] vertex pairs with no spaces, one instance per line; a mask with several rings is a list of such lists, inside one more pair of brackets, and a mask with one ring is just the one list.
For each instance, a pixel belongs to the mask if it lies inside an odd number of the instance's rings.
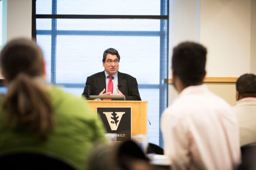
[[161,116],[165,154],[173,170],[234,170],[240,163],[238,121],[231,106],[203,85],[207,49],[173,49],[173,85],[180,93]]

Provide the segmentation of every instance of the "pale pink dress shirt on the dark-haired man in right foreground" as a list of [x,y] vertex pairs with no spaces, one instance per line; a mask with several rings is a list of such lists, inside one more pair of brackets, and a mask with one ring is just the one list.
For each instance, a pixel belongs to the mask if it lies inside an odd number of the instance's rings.
[[238,121],[206,85],[189,86],[161,116],[173,170],[233,170],[240,163]]

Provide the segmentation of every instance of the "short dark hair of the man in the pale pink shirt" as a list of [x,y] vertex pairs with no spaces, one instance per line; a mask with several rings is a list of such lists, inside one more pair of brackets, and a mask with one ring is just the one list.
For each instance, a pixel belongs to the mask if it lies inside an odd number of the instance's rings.
[[200,85],[205,76],[207,49],[195,42],[182,42],[173,49],[172,69],[183,85]]

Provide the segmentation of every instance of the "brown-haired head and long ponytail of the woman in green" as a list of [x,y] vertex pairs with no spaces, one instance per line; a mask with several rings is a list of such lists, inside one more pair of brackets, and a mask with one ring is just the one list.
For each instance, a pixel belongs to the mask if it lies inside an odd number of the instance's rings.
[[7,128],[22,125],[46,141],[54,121],[52,103],[41,80],[45,75],[42,50],[29,39],[14,39],[1,51],[0,67],[8,84],[2,105]]

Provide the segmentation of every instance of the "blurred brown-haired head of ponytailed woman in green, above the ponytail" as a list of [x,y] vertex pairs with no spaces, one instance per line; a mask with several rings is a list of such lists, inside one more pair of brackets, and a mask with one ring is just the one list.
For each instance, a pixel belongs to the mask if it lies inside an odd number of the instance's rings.
[[5,45],[0,54],[0,67],[7,82],[20,73],[31,77],[45,74],[42,50],[26,38],[14,39]]

